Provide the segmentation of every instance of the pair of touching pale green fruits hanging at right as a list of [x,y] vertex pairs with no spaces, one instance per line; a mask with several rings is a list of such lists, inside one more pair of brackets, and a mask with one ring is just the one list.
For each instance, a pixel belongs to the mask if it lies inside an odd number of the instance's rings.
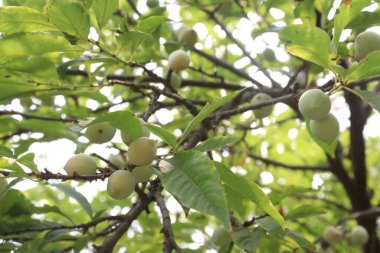
[[330,113],[330,97],[320,89],[310,89],[302,94],[298,102],[302,115],[310,119],[310,130],[320,141],[332,144],[339,135],[339,122]]

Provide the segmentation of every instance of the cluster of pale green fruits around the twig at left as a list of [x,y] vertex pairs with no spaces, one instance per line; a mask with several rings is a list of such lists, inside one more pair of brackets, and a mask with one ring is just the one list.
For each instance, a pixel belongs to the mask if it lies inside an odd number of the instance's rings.
[[[115,199],[124,199],[132,194],[136,183],[143,183],[153,175],[150,167],[156,158],[156,142],[149,139],[150,132],[141,122],[140,136],[133,137],[122,133],[123,142],[129,146],[127,161],[118,156],[110,156],[110,162],[119,169],[114,171],[108,179],[107,192]],[[115,135],[116,129],[108,122],[97,123],[87,127],[85,136],[91,143],[105,143]],[[126,165],[131,171],[126,170]],[[71,157],[64,167],[67,175],[94,175],[96,173],[95,160],[86,154],[77,154]],[[1,190],[1,189],[0,189]]]

